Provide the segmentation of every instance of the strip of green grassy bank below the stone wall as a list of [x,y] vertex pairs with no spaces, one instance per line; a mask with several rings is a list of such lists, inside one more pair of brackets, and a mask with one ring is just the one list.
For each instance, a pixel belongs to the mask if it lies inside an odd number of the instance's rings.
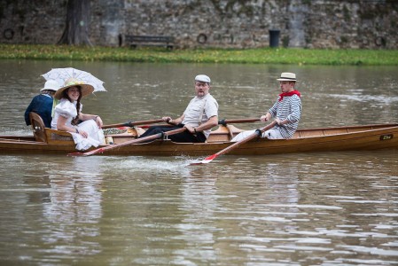
[[132,50],[126,47],[0,44],[0,59],[398,66],[398,50],[261,48],[167,51],[161,48]]

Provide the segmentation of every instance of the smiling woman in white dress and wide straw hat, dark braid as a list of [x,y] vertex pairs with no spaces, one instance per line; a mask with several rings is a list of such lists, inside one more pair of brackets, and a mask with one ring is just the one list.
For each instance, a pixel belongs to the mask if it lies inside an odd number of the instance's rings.
[[82,113],[81,99],[93,91],[90,84],[70,78],[54,95],[54,98],[59,99],[59,104],[54,109],[51,129],[71,133],[76,149],[80,151],[105,144],[101,118],[98,115]]

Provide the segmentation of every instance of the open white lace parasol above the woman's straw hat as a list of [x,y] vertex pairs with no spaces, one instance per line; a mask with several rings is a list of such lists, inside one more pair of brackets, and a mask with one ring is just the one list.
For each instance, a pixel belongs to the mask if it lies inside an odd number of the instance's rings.
[[85,72],[73,67],[65,67],[65,68],[52,68],[46,74],[42,74],[43,78],[46,81],[55,80],[59,82],[59,84],[64,84],[65,81],[69,78],[75,78],[79,81],[90,84],[94,87],[95,91],[106,91],[104,88],[104,82],[98,80],[94,75],[89,72]]

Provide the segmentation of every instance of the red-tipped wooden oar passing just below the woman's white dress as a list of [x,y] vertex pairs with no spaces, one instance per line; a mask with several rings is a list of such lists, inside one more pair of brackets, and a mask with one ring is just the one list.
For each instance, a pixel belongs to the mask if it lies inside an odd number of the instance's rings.
[[136,139],[133,139],[133,140],[129,140],[129,141],[123,142],[123,143],[118,144],[118,145],[108,145],[108,146],[101,147],[101,148],[98,148],[98,149],[95,149],[95,150],[92,150],[92,151],[86,152],[86,153],[68,153],[67,155],[68,156],[90,156],[90,155],[94,155],[94,154],[97,154],[97,153],[104,153],[106,151],[113,150],[113,149],[116,149],[116,148],[120,148],[122,146],[143,143],[143,142],[147,142],[147,141],[154,140],[154,139],[161,138],[161,137],[168,137],[168,136],[171,136],[171,135],[174,135],[174,134],[181,133],[181,132],[183,132],[185,130],[186,130],[186,128],[174,129],[174,130],[158,133],[158,134],[155,134],[155,135],[152,135],[152,136],[148,136],[148,137],[136,138]]

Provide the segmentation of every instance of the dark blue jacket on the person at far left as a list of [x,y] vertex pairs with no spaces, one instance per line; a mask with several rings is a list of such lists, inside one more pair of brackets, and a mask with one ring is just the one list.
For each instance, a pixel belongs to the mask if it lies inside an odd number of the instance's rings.
[[25,122],[27,126],[30,125],[29,113],[35,112],[40,115],[43,119],[46,128],[51,128],[51,112],[52,112],[52,98],[48,95],[37,95],[32,99],[30,105],[27,106],[25,111]]

